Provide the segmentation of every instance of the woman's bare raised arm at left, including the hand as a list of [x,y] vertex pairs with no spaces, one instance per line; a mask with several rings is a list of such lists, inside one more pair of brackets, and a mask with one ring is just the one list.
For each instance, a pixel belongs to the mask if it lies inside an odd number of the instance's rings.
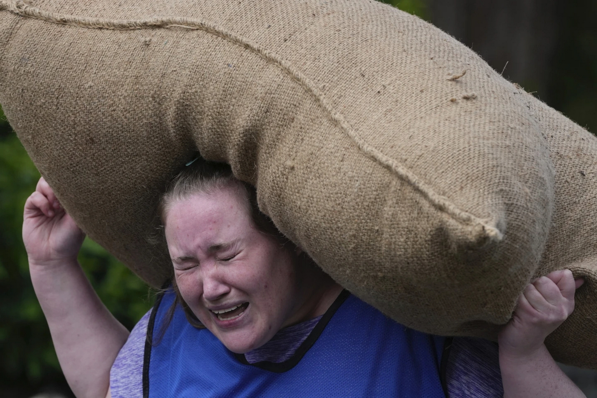
[[109,396],[110,368],[128,331],[101,303],[79,266],[84,237],[42,177],[23,215],[33,289],[73,393],[104,398]]

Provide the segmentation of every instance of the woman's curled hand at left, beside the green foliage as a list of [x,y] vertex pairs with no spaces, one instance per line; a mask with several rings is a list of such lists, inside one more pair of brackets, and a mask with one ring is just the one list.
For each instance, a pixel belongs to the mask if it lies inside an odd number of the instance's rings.
[[84,238],[44,177],[39,178],[23,214],[23,242],[30,266],[76,261]]

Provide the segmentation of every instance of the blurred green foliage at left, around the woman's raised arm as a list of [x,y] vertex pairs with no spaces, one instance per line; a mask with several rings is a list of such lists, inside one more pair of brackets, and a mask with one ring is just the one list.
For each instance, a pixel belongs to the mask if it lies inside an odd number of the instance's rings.
[[[61,379],[21,239],[23,206],[39,176],[0,108],[0,386],[28,385],[32,393]],[[147,286],[90,239],[79,261],[101,300],[131,329],[151,306]]]

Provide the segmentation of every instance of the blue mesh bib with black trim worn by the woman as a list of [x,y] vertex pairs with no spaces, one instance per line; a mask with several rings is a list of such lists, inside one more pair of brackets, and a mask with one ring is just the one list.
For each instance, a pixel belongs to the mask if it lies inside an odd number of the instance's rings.
[[[444,338],[408,329],[344,291],[293,357],[250,365],[179,307],[168,292],[149,322],[144,397],[445,397]],[[159,340],[159,342],[158,342]]]

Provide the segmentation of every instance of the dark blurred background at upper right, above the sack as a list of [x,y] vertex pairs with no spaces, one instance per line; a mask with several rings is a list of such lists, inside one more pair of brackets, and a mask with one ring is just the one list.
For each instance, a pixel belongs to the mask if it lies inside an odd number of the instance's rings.
[[427,0],[426,11],[505,78],[597,132],[597,1]]

